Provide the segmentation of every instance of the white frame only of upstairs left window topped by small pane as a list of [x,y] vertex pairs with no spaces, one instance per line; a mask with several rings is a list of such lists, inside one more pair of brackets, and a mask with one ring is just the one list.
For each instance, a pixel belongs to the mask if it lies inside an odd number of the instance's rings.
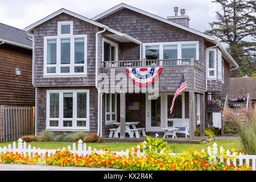
[[[60,27],[63,24],[71,25],[71,34],[60,34]],[[87,76],[87,35],[73,35],[73,22],[58,22],[57,36],[44,36],[44,71],[43,77],[86,77]],[[84,38],[84,64],[75,64],[75,39]],[[47,40],[56,39],[56,64],[47,65]],[[69,66],[69,73],[60,73],[60,46],[61,39],[70,39],[71,57],[70,64],[62,65]],[[75,67],[84,67],[83,73],[75,73]],[[56,67],[56,73],[47,73],[47,67]]]

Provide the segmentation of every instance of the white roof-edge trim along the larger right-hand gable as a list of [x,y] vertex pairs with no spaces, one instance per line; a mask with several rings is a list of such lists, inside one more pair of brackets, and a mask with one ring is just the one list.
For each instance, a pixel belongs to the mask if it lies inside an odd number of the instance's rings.
[[154,15],[154,14],[151,14],[151,13],[148,13],[147,11],[143,11],[141,9],[138,9],[136,7],[133,7],[133,6],[130,6],[130,5],[126,5],[125,3],[121,3],[117,6],[114,6],[112,7],[112,9],[109,9],[107,11],[105,11],[104,13],[101,13],[97,16],[95,16],[94,18],[92,18],[92,20],[95,20],[95,21],[98,21],[102,18],[105,18],[106,16],[109,16],[123,8],[127,8],[127,9],[130,9],[130,10],[133,10],[133,11],[136,11],[137,13],[141,13],[143,15],[146,15],[146,16],[150,16],[151,18],[155,18],[157,20],[160,20],[164,23],[167,23],[167,24],[171,24],[172,26],[175,26],[175,27],[179,27],[183,30],[186,30],[186,31],[189,31],[189,32],[192,32],[193,34],[197,34],[199,36],[202,36],[203,38],[205,38],[206,40],[208,40],[209,42],[213,43],[213,44],[218,44],[218,47],[221,49],[222,52],[224,52],[224,55],[226,56],[226,59],[229,61],[229,63],[233,64],[234,67],[238,67],[238,64],[237,62],[233,59],[232,56],[229,55],[229,53],[226,51],[226,49],[224,47],[221,46],[220,42],[213,38],[212,36],[209,36],[207,34],[204,34],[203,32],[200,32],[200,31],[197,31],[197,30],[194,30],[192,28],[189,28],[189,27],[185,27],[181,24],[178,24],[178,23],[175,23],[175,22],[171,22],[170,20],[168,19],[165,19],[165,18],[162,18],[158,15]]

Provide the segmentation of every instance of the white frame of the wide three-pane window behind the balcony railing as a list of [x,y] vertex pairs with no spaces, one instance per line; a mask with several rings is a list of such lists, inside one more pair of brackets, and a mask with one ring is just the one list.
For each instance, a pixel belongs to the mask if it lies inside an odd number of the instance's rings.
[[[199,41],[186,41],[186,42],[159,42],[159,43],[143,43],[142,44],[142,57],[146,59],[146,46],[159,46],[159,60],[163,59],[163,46],[177,45],[177,59],[181,59],[181,46],[186,44],[196,44],[196,57],[195,60],[199,60]],[[190,59],[190,57],[189,57]],[[181,61],[178,61],[178,65]],[[160,61],[162,65],[162,61]]]

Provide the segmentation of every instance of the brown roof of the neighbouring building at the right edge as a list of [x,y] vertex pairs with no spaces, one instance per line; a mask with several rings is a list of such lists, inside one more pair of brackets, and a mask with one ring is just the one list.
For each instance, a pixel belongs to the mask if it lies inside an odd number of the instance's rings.
[[256,77],[230,78],[230,95],[251,97],[251,109],[256,111]]

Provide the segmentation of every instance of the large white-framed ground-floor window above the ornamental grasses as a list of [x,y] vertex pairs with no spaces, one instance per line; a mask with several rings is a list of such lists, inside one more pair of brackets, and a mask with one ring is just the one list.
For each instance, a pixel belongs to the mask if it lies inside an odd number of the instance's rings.
[[89,130],[89,90],[47,90],[47,129]]

